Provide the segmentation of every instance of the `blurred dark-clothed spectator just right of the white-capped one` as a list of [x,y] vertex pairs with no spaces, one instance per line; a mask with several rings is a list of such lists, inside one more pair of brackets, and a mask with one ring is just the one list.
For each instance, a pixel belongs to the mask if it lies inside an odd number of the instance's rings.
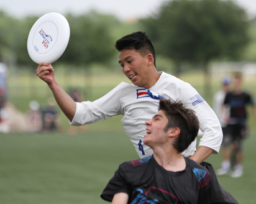
[[58,111],[55,106],[55,101],[52,98],[49,98],[47,103],[48,106],[42,109],[43,132],[60,131]]

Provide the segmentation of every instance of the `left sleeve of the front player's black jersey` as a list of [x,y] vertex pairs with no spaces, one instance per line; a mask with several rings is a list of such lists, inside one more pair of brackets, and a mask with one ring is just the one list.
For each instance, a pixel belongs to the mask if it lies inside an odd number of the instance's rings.
[[[122,164],[121,164],[122,165]],[[127,183],[121,165],[116,170],[115,175],[109,180],[107,186],[101,193],[100,197],[106,201],[112,201],[116,193],[127,193],[130,195],[130,186]]]

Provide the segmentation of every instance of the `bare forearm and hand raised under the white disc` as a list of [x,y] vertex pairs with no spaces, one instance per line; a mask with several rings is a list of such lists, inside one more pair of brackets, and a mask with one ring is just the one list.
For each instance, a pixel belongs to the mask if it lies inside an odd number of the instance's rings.
[[72,121],[76,113],[76,102],[57,83],[52,65],[42,62],[36,69],[36,75],[48,84],[60,109]]

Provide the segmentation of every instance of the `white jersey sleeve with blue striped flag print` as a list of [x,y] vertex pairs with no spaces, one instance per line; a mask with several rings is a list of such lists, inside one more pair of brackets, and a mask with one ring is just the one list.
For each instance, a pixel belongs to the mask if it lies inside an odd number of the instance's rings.
[[204,133],[200,139],[199,146],[206,146],[219,153],[222,142],[222,129],[217,115],[199,93],[188,83],[179,90],[182,102],[188,108],[196,112],[199,120],[200,130]]

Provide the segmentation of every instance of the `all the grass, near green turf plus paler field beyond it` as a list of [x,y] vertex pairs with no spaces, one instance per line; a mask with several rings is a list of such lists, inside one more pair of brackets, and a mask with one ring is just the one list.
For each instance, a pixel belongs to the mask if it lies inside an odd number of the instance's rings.
[[[60,85],[83,90],[85,100],[95,100],[121,81],[127,79],[116,71],[91,73],[55,74]],[[72,71],[70,71],[71,73]],[[203,75],[186,73],[180,76],[192,84],[203,95]],[[220,77],[212,79],[212,93],[220,89]],[[9,102],[19,111],[26,113],[30,100],[45,105],[52,97],[47,85],[36,77],[17,71],[8,78]],[[246,90],[254,93],[256,81],[245,80]],[[212,97],[205,98],[211,105]],[[52,134],[0,134],[0,203],[6,204],[84,204],[106,203],[100,193],[113,176],[118,165],[138,156],[121,125],[121,116],[87,126],[87,132],[68,135],[68,121],[59,114],[62,133]],[[256,163],[254,152],[256,130],[250,117],[251,134],[245,140],[244,176],[232,179],[219,177],[220,184],[240,204],[255,204]],[[208,162],[220,167],[220,155],[212,155]]]

